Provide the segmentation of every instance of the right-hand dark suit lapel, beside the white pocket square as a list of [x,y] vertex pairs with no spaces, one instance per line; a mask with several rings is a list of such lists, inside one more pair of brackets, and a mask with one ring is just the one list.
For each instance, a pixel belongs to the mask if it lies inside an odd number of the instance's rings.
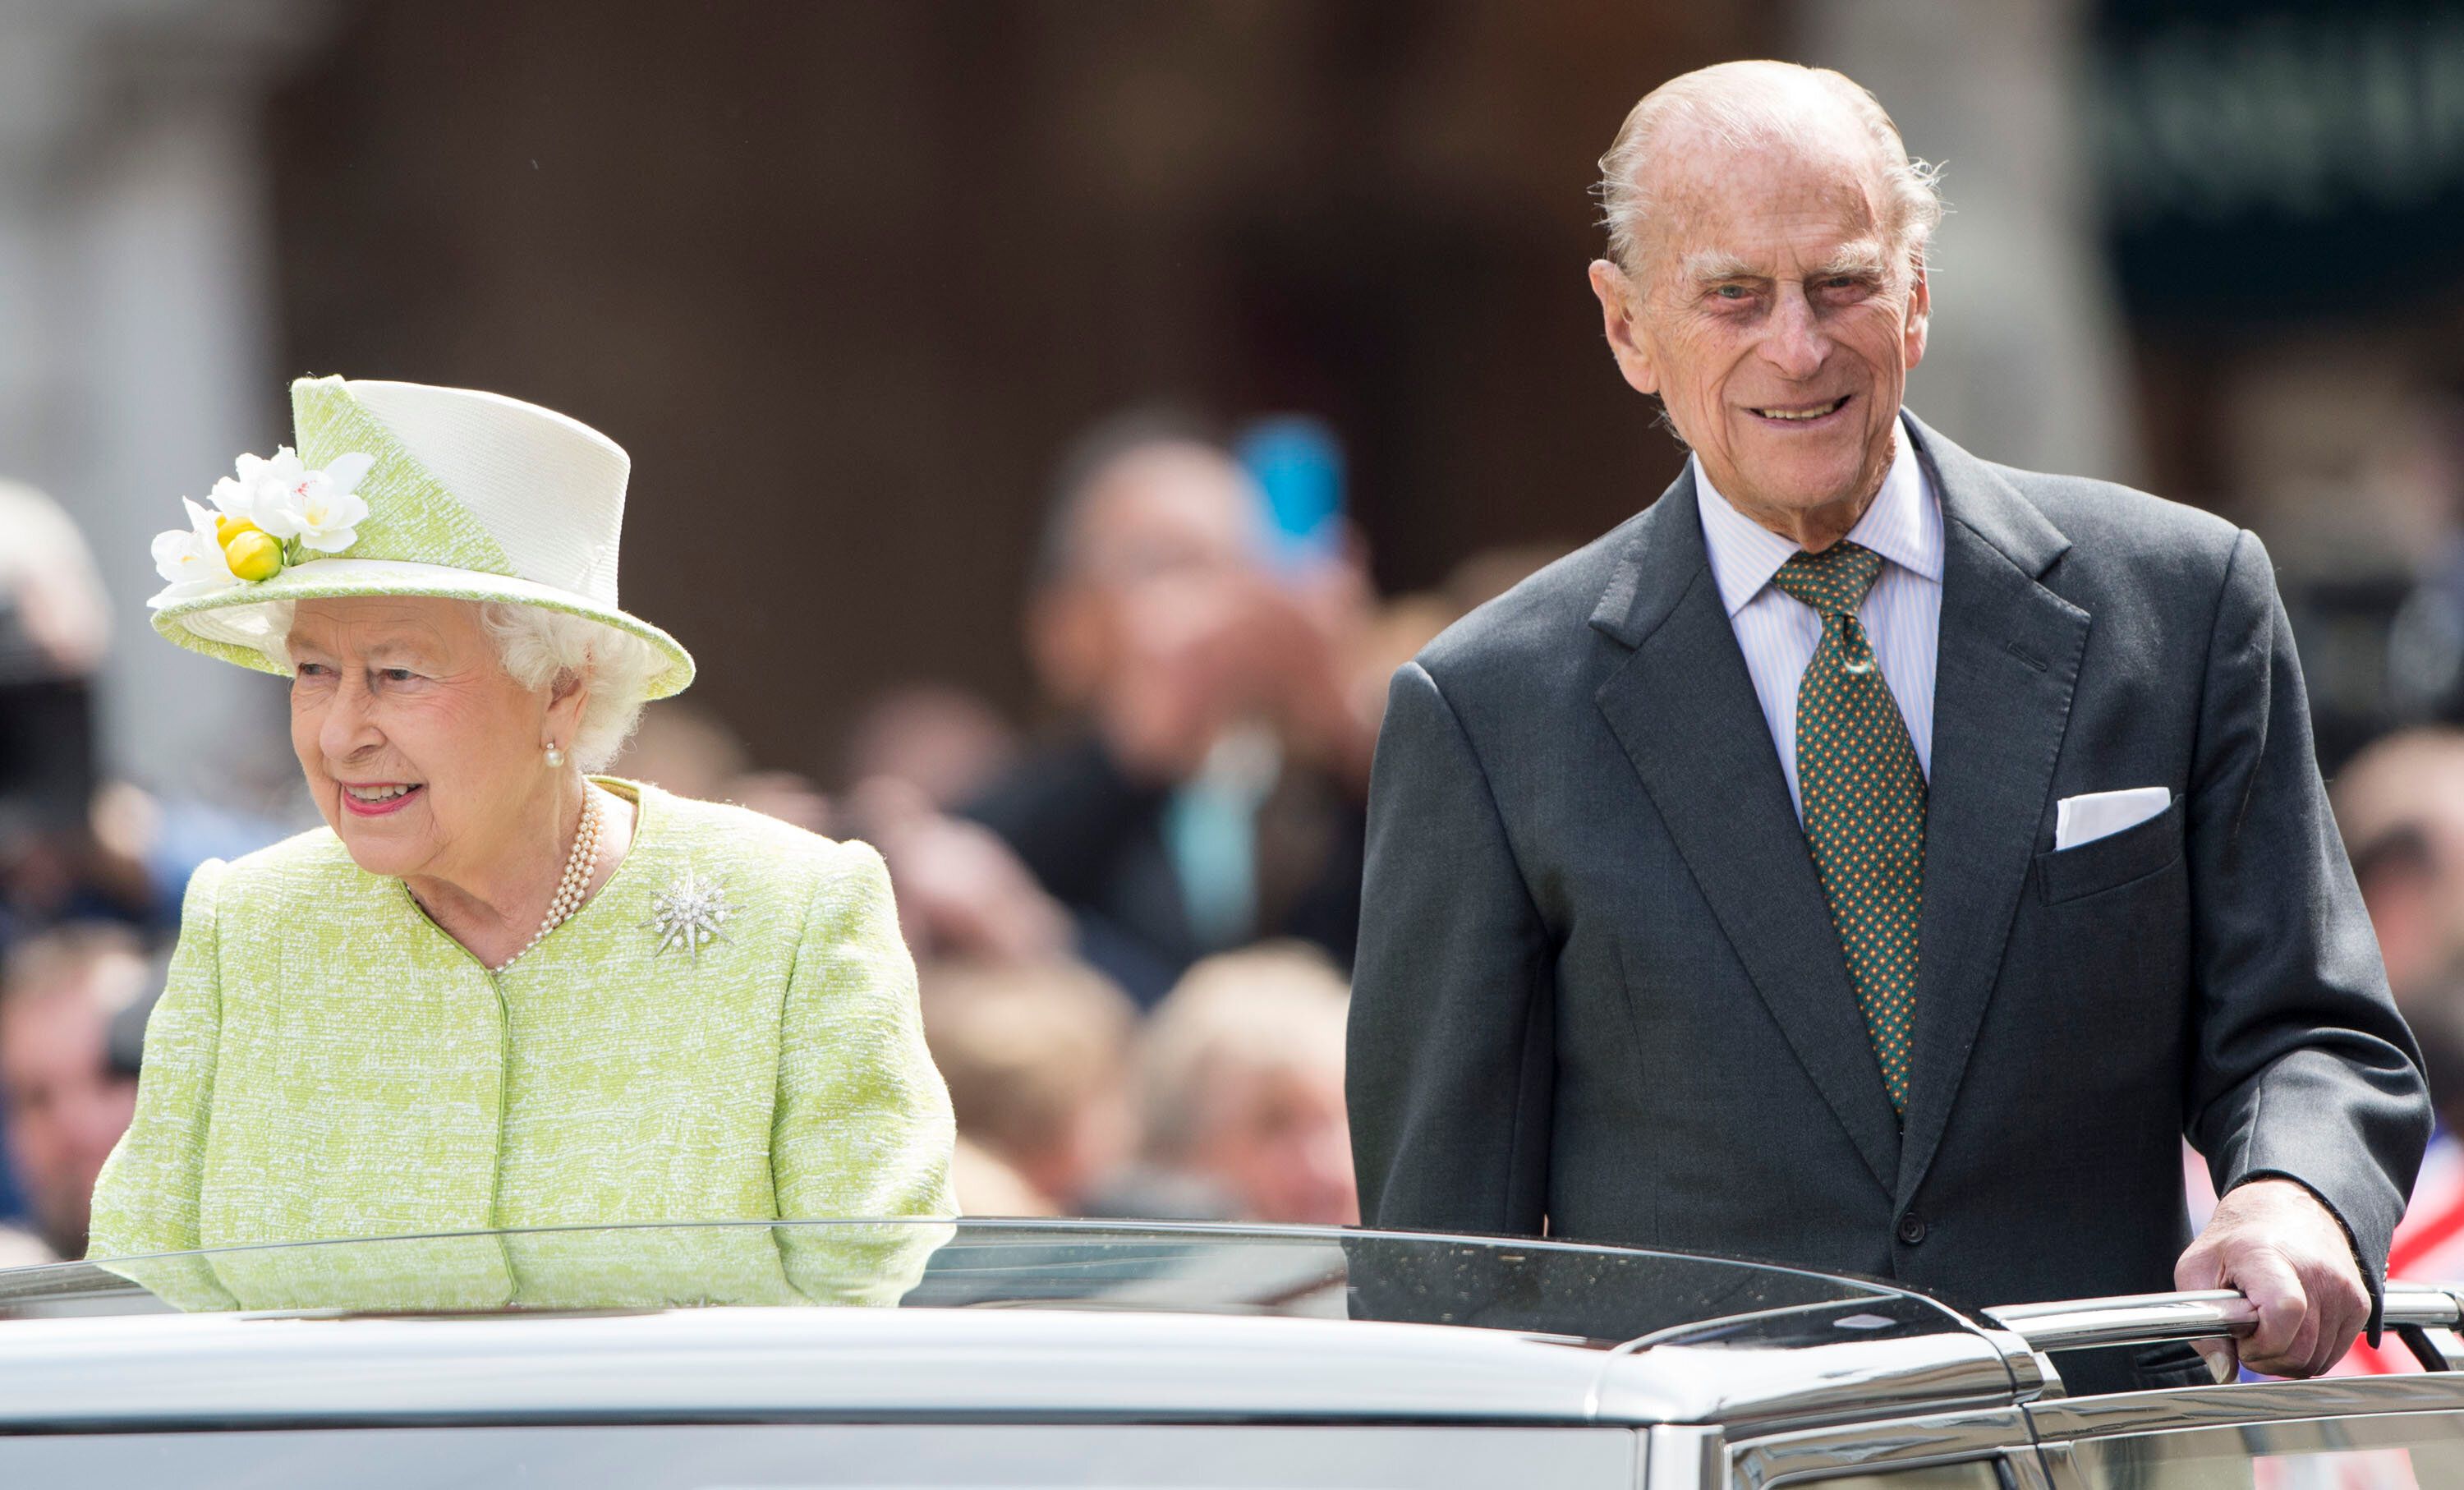
[[1942,1143],[2001,973],[2089,628],[2038,584],[2070,539],[1988,465],[1910,424],[1942,495],[1942,645],[1900,1204]]

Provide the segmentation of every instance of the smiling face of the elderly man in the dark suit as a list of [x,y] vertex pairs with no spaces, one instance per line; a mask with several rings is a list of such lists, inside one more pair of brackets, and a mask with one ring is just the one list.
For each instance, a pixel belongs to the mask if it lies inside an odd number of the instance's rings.
[[1924,357],[1924,276],[1858,133],[1671,135],[1651,165],[1641,264],[1592,268],[1609,340],[1740,512],[1828,542],[1890,468],[1900,394]]

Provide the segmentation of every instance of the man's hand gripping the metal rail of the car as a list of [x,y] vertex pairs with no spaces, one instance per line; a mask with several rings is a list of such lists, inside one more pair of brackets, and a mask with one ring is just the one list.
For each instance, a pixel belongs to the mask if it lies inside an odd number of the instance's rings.
[[[2259,1308],[2259,1327],[2240,1342],[2240,1357],[2269,1377],[2316,1377],[2343,1359],[2370,1320],[2353,1244],[2319,1197],[2292,1180],[2235,1185],[2173,1263],[2173,1286],[2240,1288]],[[2220,1379],[2232,1379],[2232,1345],[2200,1340],[2198,1352]]]

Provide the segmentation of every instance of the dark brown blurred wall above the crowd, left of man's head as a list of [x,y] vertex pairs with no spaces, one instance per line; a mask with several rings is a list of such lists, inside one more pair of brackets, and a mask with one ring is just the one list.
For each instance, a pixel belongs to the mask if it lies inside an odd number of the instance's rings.
[[628,603],[764,759],[825,773],[909,675],[1032,702],[1020,554],[1121,404],[1328,419],[1390,586],[1656,493],[1678,453],[1582,288],[1592,163],[1639,84],[1769,34],[1757,5],[362,5],[266,101],[281,364],[616,433]]

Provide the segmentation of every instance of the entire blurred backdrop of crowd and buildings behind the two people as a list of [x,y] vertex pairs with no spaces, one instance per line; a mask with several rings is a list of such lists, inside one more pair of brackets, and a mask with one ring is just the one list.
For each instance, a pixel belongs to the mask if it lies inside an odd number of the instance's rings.
[[2267,539],[2397,993],[2464,1010],[2454,5],[27,0],[0,1212],[108,1148],[187,869],[313,823],[145,539],[340,372],[631,451],[623,598],[702,672],[618,768],[882,842],[973,1209],[1340,1219],[1382,677],[1676,475],[1594,163],[1730,57],[1947,165],[1917,411]]

